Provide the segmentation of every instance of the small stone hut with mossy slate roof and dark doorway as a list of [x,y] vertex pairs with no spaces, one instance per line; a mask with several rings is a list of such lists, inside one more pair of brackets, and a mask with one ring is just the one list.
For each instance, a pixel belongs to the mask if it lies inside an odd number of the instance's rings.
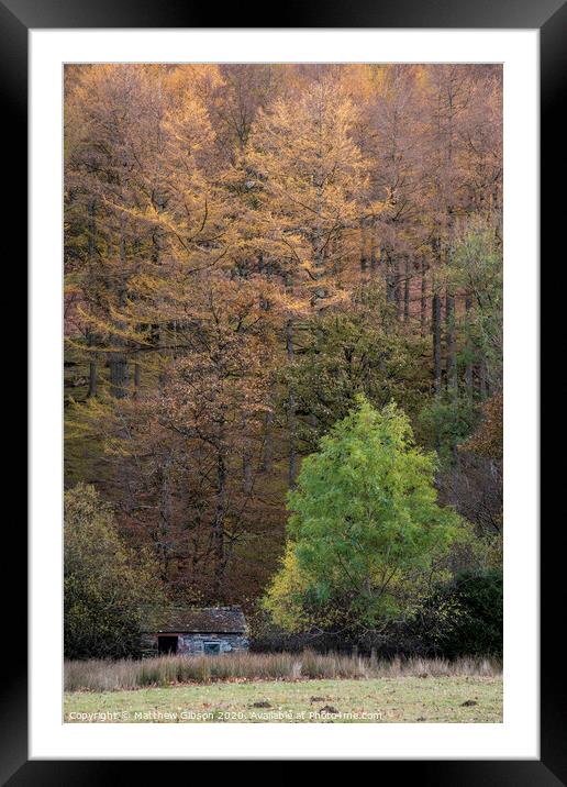
[[220,655],[248,650],[246,619],[240,607],[178,610],[157,625],[153,631],[142,632],[144,656]]

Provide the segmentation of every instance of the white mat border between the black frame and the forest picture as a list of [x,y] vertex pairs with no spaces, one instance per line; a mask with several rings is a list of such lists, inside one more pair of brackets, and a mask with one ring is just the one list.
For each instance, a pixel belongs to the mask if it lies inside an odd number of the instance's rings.
[[[538,31],[30,31],[31,652],[36,758],[538,757]],[[89,62],[504,64],[504,722],[62,722],[62,74]]]

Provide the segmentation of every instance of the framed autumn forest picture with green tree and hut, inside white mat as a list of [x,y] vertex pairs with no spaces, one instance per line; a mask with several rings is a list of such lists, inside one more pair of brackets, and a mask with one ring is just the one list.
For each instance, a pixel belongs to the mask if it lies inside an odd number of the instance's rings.
[[502,64],[63,88],[64,724],[501,725]]

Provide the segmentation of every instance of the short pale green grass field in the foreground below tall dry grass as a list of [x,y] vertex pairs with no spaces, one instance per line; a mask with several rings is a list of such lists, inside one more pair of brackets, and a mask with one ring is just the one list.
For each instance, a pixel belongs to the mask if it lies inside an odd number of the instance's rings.
[[219,681],[65,695],[64,721],[501,722],[501,677]]

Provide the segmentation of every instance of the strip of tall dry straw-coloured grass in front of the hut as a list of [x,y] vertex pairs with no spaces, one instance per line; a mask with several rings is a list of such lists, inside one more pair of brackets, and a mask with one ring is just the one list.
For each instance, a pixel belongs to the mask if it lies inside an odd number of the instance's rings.
[[497,677],[499,662],[488,658],[393,658],[292,653],[234,653],[222,656],[159,656],[142,661],[66,662],[66,691],[116,691],[222,680],[301,680],[393,677]]

